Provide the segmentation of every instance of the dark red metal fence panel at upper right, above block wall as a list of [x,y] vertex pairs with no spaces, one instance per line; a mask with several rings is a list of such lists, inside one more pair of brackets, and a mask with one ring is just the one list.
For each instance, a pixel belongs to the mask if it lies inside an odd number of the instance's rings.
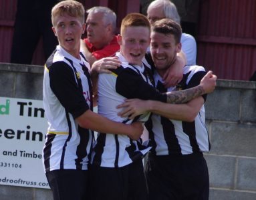
[[249,80],[256,70],[256,1],[201,1],[197,63],[220,79]]

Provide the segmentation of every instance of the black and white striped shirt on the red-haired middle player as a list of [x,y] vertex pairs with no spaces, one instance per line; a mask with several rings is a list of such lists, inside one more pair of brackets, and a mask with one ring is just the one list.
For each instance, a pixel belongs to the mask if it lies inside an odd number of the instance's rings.
[[[111,74],[102,73],[98,80],[98,113],[126,124],[132,123],[128,118],[118,116],[117,105],[124,99],[152,99],[166,102],[166,95],[153,87],[151,71],[147,67],[130,65],[120,53],[117,53],[122,66],[112,70]],[[151,80],[151,81],[150,81]],[[146,121],[149,113],[135,121]],[[140,141],[132,141],[126,135],[99,133],[92,151],[92,163],[102,167],[123,167],[142,157],[150,147]]]

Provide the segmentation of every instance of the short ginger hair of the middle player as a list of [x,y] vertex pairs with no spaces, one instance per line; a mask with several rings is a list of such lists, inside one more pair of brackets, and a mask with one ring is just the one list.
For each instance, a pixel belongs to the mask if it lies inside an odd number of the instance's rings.
[[148,30],[150,31],[150,23],[148,19],[140,13],[129,13],[122,19],[121,35],[127,27],[148,27]]

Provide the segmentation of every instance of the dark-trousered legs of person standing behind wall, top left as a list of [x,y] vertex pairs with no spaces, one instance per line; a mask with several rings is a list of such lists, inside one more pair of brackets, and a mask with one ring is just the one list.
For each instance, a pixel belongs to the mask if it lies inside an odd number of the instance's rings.
[[57,45],[51,30],[51,8],[57,0],[18,0],[11,63],[31,64],[39,39],[43,38],[46,59]]

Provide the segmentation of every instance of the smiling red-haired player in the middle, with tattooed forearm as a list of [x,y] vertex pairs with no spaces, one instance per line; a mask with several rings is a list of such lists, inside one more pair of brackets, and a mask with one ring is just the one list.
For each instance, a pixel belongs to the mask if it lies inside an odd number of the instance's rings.
[[[136,119],[118,116],[117,106],[125,99],[139,98],[166,103],[184,103],[213,91],[215,79],[209,75],[205,83],[184,91],[160,93],[154,88],[151,71],[142,63],[150,44],[150,23],[140,13],[130,13],[121,24],[118,35],[122,61],[112,73],[100,73],[98,80],[98,113],[113,121],[130,124],[132,121],[147,121],[149,113]],[[125,135],[101,132],[92,150],[90,166],[90,191],[92,199],[146,199],[142,157],[149,151],[148,144],[132,140]],[[111,179],[111,184],[110,183]]]

